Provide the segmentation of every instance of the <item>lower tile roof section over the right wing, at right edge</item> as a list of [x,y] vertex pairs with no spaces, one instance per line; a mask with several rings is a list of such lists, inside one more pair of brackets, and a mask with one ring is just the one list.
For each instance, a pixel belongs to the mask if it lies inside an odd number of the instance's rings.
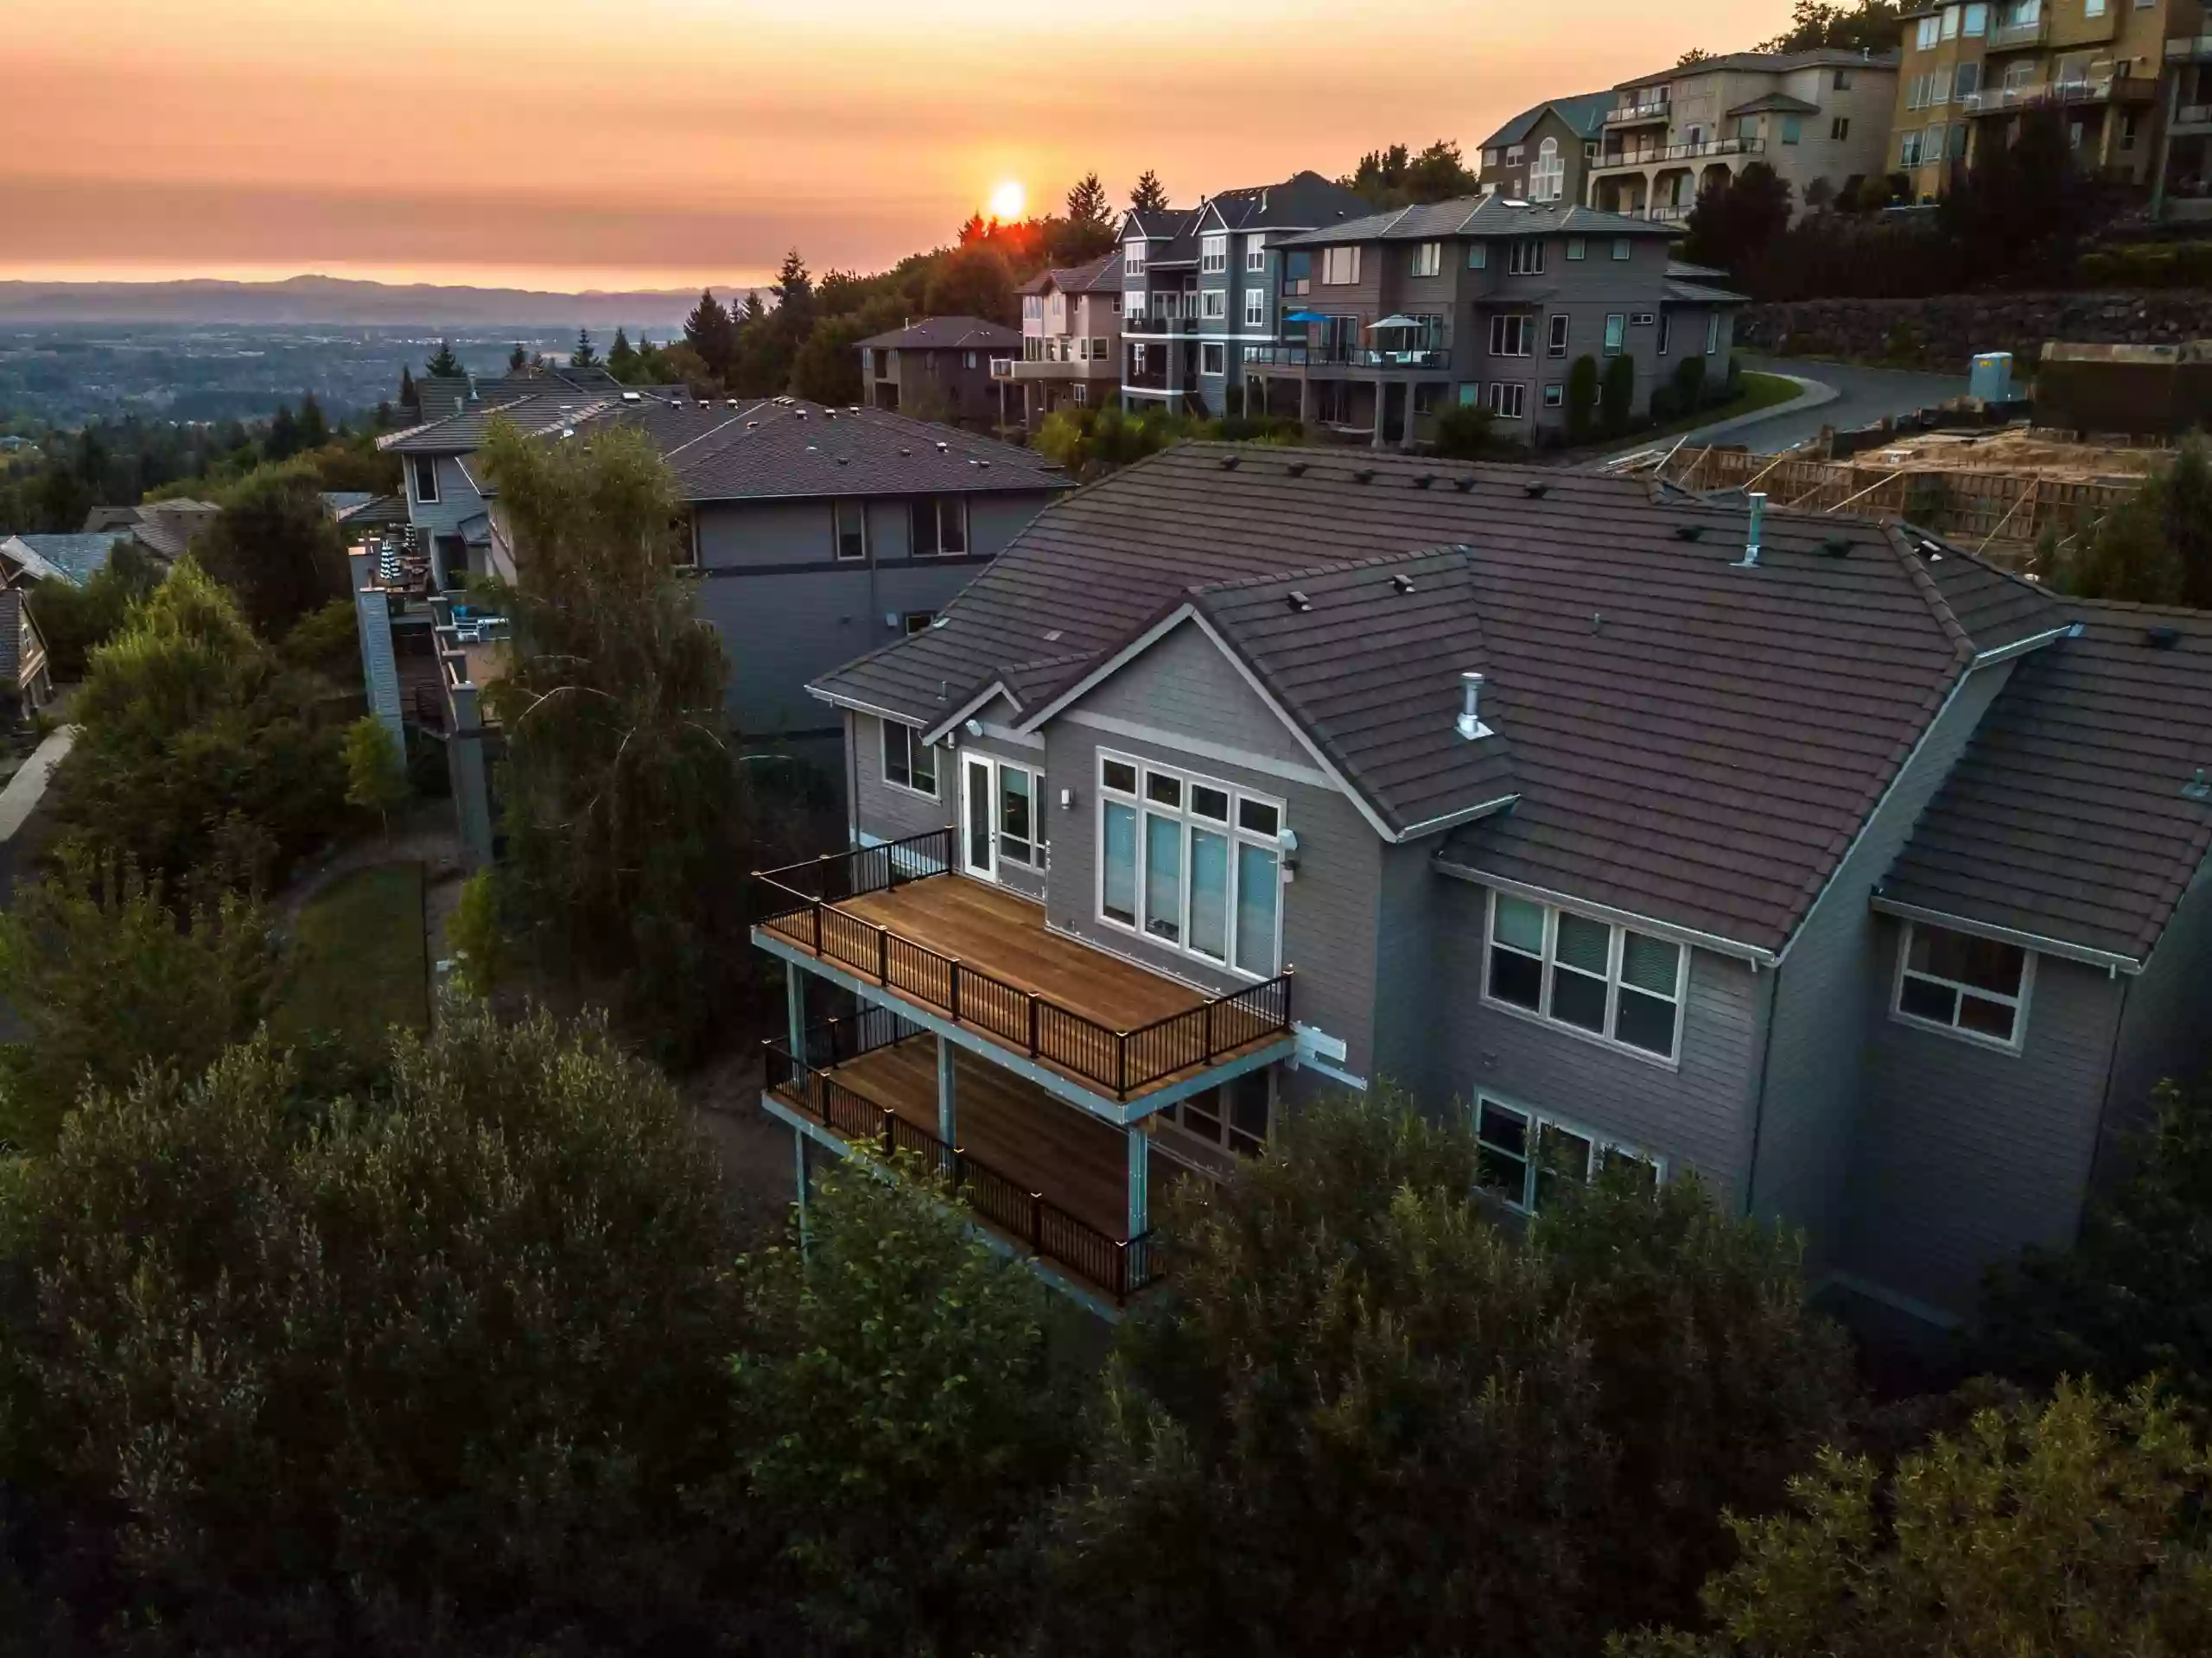
[[1882,898],[2148,959],[2212,849],[2212,615],[2053,601],[2081,632],[2024,657],[1920,816]]

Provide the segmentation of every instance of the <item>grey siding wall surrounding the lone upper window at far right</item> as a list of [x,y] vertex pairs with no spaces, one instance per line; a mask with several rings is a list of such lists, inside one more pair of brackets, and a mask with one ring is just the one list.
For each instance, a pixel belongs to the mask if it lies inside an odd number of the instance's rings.
[[2006,1054],[1893,1019],[1902,926],[1878,931],[1885,995],[1867,1041],[1843,1267],[1964,1318],[1989,1265],[2073,1242],[2119,986],[2075,962],[2037,962],[2026,1046]]

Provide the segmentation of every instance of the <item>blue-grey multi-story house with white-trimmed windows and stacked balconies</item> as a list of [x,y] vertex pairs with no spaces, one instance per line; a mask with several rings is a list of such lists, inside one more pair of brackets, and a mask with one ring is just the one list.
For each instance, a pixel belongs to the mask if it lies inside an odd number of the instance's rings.
[[1121,221],[1121,402],[1130,411],[1228,413],[1243,349],[1281,321],[1270,248],[1343,223],[1367,203],[1318,172],[1223,190],[1197,208]]

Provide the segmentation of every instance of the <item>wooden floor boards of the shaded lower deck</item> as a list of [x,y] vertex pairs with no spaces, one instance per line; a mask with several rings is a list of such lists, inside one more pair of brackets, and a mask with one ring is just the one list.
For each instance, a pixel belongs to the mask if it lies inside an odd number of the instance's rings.
[[[938,1132],[938,1052],[929,1037],[876,1048],[830,1074]],[[956,1050],[953,1112],[962,1152],[1108,1238],[1128,1238],[1128,1143],[1119,1132],[967,1050]]]

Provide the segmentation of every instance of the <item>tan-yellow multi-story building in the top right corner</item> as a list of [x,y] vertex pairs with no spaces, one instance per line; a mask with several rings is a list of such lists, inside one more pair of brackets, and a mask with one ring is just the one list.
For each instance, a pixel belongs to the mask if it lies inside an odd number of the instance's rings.
[[[2022,119],[2048,111],[2066,124],[2084,168],[2148,188],[2168,35],[2181,38],[2174,66],[2183,69],[2201,29],[2197,0],[1960,0],[1911,13],[1889,170],[1913,201],[1933,201],[1955,168],[2011,144]],[[2179,130],[2179,106],[2174,115]]]

